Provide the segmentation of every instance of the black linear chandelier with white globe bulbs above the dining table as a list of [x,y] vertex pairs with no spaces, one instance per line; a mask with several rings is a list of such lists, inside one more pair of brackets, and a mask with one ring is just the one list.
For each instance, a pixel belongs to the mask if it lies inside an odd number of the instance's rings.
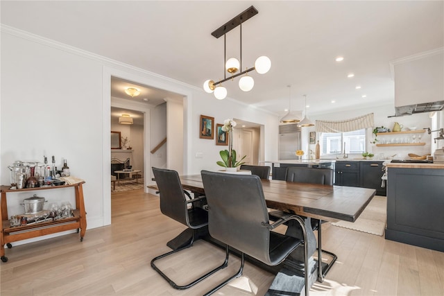
[[[228,81],[228,80],[234,80],[237,76],[242,76],[241,79],[239,79],[239,88],[242,89],[244,92],[249,92],[251,89],[253,89],[253,86],[255,85],[255,80],[253,77],[248,76],[248,72],[256,70],[259,74],[264,74],[268,72],[271,68],[271,60],[267,58],[266,56],[261,56],[257,58],[255,62],[255,67],[252,67],[250,69],[246,68],[246,70],[241,71],[240,73],[234,74],[237,71],[242,70],[242,23],[250,17],[254,17],[257,15],[258,11],[254,6],[250,6],[247,10],[244,12],[241,12],[241,14],[237,15],[237,17],[234,17],[230,21],[228,21],[226,24],[218,28],[216,31],[211,33],[216,38],[223,36],[223,62],[225,63],[224,71],[223,71],[223,80],[220,80],[218,82],[214,82],[214,80],[208,79],[205,82],[203,82],[203,89],[205,92],[211,94],[214,92],[214,96],[218,98],[219,100],[222,100],[227,96],[227,89],[222,86],[222,82]],[[226,58],[226,38],[225,34],[230,32],[232,29],[236,28],[237,26],[240,26],[241,31],[241,49],[240,49],[240,62],[237,60],[237,58],[229,58],[227,60]],[[227,78],[226,72],[230,73],[231,76]]]

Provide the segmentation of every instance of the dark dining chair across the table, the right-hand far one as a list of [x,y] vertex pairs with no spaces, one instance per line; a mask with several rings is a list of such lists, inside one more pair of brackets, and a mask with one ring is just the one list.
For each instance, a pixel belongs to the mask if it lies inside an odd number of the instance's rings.
[[[289,166],[287,168],[285,180],[287,182],[323,184],[332,186],[333,170],[330,168],[305,168],[301,166]],[[269,213],[270,220],[276,220],[280,218],[280,215],[282,215],[282,211],[271,211]],[[334,253],[322,250],[322,223],[323,221],[321,219],[311,218],[311,229],[318,231],[318,280],[321,282],[323,281],[325,274],[330,270],[330,268],[332,268],[332,265],[338,258],[338,256],[336,256]],[[330,264],[327,265],[325,270],[322,270],[322,253],[328,254],[332,257]]]

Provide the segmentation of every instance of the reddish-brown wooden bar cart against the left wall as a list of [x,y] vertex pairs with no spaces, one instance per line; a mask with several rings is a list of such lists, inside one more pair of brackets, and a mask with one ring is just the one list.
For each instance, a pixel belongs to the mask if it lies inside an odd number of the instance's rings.
[[[83,241],[83,236],[86,232],[86,212],[85,203],[83,200],[83,187],[82,184],[85,182],[80,182],[71,185],[62,186],[51,186],[51,187],[37,187],[28,189],[10,189],[10,186],[1,186],[1,234],[0,234],[0,256],[1,261],[7,262],[8,257],[5,256],[4,246],[15,241],[22,241],[28,238],[35,238],[37,236],[44,236],[46,234],[53,234],[56,232],[65,232],[71,229],[77,229],[80,232],[80,241]],[[76,206],[73,210],[73,217],[62,218],[58,220],[44,221],[41,223],[35,223],[31,225],[23,226],[10,226],[10,221],[8,219],[8,203],[6,195],[8,193],[19,192],[19,191],[29,191],[30,193],[35,193],[35,191],[44,190],[57,190],[70,187],[74,189],[76,194]]]

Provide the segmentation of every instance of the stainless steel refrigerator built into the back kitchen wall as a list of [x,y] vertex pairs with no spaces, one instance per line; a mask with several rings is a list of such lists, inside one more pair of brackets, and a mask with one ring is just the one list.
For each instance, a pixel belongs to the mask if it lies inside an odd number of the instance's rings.
[[279,160],[298,159],[300,150],[300,128],[297,123],[279,125]]

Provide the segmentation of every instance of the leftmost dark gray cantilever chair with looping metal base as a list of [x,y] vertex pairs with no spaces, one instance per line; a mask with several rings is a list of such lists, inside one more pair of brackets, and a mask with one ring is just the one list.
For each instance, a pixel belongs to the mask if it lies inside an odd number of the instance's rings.
[[[185,284],[179,286],[173,280],[171,280],[167,275],[162,272],[155,265],[155,261],[162,259],[171,254],[175,254],[176,252],[180,252],[185,250],[187,247],[191,247],[196,239],[196,232],[203,227],[207,227],[208,225],[208,213],[201,207],[196,207],[194,203],[202,202],[205,199],[205,196],[200,196],[199,198],[191,198],[189,194],[186,194],[187,191],[184,191],[182,188],[182,184],[180,184],[180,178],[178,172],[171,171],[163,168],[154,168],[153,173],[155,177],[155,182],[157,183],[157,188],[160,193],[160,211],[165,216],[172,218],[173,220],[182,223],[192,229],[192,238],[188,244],[178,247],[178,249],[173,250],[171,252],[167,252],[160,256],[156,256],[153,260],[151,260],[151,267],[157,271],[165,280],[169,282],[173,288],[178,290],[184,290],[190,288],[198,284],[198,282],[210,277],[210,275],[214,274],[218,270],[225,268],[228,264],[228,261],[222,263],[222,265],[214,268],[210,272],[207,272],[205,275],[191,281],[189,284]],[[191,207],[190,207],[191,204]]]

